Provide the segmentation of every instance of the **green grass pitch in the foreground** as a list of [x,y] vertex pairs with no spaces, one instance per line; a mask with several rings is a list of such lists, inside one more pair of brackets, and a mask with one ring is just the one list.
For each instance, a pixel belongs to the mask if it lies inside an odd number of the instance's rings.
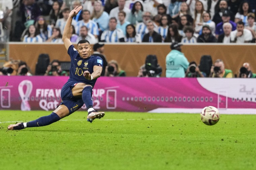
[[49,126],[8,131],[46,111],[0,111],[0,169],[256,169],[256,115],[77,111]]

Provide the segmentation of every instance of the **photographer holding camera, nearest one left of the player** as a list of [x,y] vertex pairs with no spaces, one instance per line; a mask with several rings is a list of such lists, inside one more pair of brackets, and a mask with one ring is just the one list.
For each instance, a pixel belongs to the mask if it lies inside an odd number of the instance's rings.
[[59,60],[53,60],[51,64],[47,67],[44,75],[68,75],[66,71],[63,71]]

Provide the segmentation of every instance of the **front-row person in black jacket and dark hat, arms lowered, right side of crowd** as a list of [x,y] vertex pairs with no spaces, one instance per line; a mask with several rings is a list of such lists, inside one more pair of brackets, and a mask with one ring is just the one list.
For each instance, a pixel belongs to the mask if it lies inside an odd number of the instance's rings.
[[209,25],[203,25],[202,34],[198,36],[198,43],[216,43],[216,38],[211,32]]

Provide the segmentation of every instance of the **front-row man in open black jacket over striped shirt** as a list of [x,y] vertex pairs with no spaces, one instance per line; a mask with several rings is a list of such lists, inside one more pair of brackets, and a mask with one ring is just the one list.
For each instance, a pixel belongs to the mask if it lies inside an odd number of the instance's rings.
[[146,42],[146,43],[162,42],[162,36],[154,31],[154,23],[152,20],[147,21],[147,29],[149,32],[144,35],[142,42]]

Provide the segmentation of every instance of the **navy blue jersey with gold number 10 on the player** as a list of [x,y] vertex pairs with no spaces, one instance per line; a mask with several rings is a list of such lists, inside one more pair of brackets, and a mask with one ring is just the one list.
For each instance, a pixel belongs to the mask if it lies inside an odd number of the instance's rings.
[[87,59],[83,59],[80,57],[78,51],[74,48],[73,45],[69,46],[68,54],[71,60],[69,80],[90,84],[93,87],[97,78],[88,80],[84,77],[83,73],[84,71],[88,70],[92,74],[93,66],[95,65],[102,67],[102,59],[98,56],[90,56]]

